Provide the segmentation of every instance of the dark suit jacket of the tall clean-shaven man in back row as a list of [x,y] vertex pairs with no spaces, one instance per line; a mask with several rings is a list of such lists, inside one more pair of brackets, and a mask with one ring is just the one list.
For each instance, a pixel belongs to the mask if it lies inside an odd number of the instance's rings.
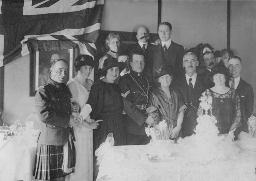
[[[169,47],[171,49],[171,56],[169,57],[169,65],[171,62],[175,62],[175,75],[180,74],[183,72],[182,70],[182,59],[185,54],[184,47],[180,44],[176,44],[175,42],[171,42]],[[151,50],[149,50],[149,62],[150,66],[152,67],[152,78],[155,77],[155,69],[159,68],[161,65],[164,64],[163,62],[163,53],[162,53],[162,44],[154,45]],[[156,83],[156,81],[155,81]]]

